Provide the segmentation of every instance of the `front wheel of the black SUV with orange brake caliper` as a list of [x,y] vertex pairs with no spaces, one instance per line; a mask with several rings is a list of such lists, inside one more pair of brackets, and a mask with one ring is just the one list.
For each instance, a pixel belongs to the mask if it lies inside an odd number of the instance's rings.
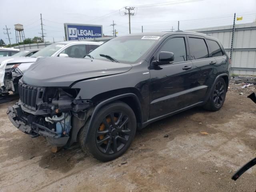
[[100,109],[85,142],[89,123],[90,120],[81,130],[80,145],[84,152],[100,161],[110,161],[124,154],[136,133],[135,114],[124,102],[114,102]]

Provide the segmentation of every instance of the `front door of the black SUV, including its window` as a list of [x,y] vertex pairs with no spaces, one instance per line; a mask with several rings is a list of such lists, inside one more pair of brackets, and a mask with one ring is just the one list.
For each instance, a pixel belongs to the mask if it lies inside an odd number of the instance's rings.
[[150,119],[190,105],[190,90],[195,86],[192,81],[193,64],[188,60],[186,36],[167,39],[156,52],[155,58],[160,51],[173,52],[174,63],[150,66]]

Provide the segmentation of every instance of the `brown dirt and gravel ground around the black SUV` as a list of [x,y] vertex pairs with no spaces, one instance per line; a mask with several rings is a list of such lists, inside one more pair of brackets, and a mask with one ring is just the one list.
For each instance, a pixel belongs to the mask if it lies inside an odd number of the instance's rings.
[[256,167],[231,180],[256,157],[256,104],[238,86],[230,84],[220,111],[194,108],[155,122],[106,163],[78,145],[52,153],[44,138],[12,126],[6,109],[13,102],[0,104],[0,192],[254,192]]

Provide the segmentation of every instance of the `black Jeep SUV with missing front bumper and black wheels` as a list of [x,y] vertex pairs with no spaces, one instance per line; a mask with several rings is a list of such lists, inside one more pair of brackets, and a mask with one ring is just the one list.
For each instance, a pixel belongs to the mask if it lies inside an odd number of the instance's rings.
[[19,82],[11,122],[53,146],[78,141],[102,161],[122,155],[136,130],[225,100],[230,60],[220,42],[195,32],[116,37],[84,59],[40,58]]

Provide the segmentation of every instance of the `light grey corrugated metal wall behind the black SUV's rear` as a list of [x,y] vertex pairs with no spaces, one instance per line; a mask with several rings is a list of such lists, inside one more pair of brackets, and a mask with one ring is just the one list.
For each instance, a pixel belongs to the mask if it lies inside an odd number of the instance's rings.
[[[189,31],[216,37],[230,56],[233,25]],[[232,52],[232,73],[256,75],[256,22],[236,24]]]

